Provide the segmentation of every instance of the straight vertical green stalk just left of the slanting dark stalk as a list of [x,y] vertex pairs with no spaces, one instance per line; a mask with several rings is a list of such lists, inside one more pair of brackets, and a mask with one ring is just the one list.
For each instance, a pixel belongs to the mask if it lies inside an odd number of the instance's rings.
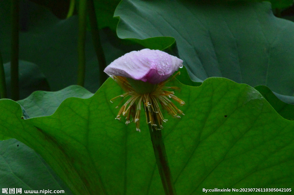
[[78,85],[84,86],[86,55],[85,55],[85,39],[86,39],[86,10],[87,1],[80,0],[78,6]]

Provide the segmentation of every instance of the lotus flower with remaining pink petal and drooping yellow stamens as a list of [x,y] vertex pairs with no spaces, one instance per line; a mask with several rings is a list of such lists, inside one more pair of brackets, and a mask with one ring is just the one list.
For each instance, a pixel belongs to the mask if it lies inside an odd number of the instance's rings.
[[[131,96],[121,106],[116,119],[121,120],[121,115],[126,117],[126,125],[133,121],[136,123],[136,130],[140,132],[141,106],[144,106],[147,123],[156,130],[163,128],[163,118],[159,104],[168,111],[174,118],[181,118],[177,114],[183,114],[171,98],[184,105],[185,102],[174,95],[173,91],[165,89],[178,89],[178,87],[165,87],[168,79],[178,68],[183,67],[183,60],[169,55],[160,50],[143,49],[132,51],[111,62],[104,72],[111,76],[126,93],[119,95],[110,101]],[[117,106],[118,108],[118,106]],[[183,114],[184,115],[184,114]]]

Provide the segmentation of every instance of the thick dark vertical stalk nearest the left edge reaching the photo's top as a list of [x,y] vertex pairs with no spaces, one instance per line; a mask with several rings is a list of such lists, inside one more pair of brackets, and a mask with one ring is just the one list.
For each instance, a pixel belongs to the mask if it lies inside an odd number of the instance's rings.
[[11,0],[11,99],[19,100],[19,0]]

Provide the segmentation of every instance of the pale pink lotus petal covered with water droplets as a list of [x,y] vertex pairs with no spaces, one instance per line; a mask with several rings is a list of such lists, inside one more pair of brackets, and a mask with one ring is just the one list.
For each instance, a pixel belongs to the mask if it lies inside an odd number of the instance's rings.
[[170,77],[183,60],[160,50],[143,49],[132,51],[110,63],[104,72],[109,76],[123,76],[152,84]]

